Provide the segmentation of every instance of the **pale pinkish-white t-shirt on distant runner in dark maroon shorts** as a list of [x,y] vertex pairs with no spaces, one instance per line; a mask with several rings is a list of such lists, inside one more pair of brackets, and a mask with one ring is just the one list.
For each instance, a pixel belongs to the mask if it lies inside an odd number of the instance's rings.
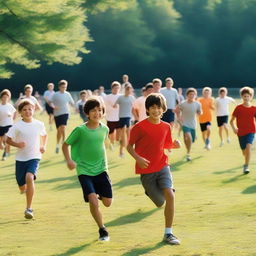
[[113,105],[116,103],[120,94],[108,94],[104,98],[106,106],[106,120],[109,122],[119,121],[119,105],[116,108],[113,108]]

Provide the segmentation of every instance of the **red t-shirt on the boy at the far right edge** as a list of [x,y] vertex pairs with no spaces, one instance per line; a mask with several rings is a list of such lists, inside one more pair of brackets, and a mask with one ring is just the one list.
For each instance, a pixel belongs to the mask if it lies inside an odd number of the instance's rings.
[[243,104],[238,105],[233,116],[236,117],[238,136],[244,136],[248,133],[256,133],[256,107],[245,107]]

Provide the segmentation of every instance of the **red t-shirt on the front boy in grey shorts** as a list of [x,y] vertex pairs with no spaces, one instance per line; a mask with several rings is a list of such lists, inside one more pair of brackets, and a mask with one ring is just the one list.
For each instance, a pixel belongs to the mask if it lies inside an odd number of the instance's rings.
[[148,119],[144,119],[131,129],[129,144],[135,144],[135,152],[150,161],[146,169],[141,169],[136,163],[137,174],[159,172],[168,165],[164,149],[172,147],[171,127],[163,121],[152,124]]

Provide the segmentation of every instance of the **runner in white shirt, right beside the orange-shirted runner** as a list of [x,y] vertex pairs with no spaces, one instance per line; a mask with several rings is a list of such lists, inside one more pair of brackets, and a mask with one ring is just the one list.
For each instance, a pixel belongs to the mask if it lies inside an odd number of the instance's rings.
[[229,131],[228,131],[228,116],[229,116],[229,104],[233,103],[236,105],[236,101],[228,97],[228,90],[226,87],[221,87],[219,89],[219,97],[215,100],[216,105],[216,116],[217,124],[219,127],[220,136],[220,147],[224,145],[223,131],[225,130],[227,135],[227,143],[230,143]]

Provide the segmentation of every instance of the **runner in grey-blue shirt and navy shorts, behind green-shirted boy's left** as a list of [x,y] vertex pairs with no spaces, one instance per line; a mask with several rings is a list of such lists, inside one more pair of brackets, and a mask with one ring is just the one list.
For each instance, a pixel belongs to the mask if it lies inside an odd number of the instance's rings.
[[54,120],[57,128],[57,144],[55,153],[60,150],[60,143],[65,141],[66,126],[69,118],[68,104],[74,106],[74,100],[69,92],[67,92],[68,82],[60,80],[58,83],[59,91],[55,92],[51,98],[51,104],[54,108]]

